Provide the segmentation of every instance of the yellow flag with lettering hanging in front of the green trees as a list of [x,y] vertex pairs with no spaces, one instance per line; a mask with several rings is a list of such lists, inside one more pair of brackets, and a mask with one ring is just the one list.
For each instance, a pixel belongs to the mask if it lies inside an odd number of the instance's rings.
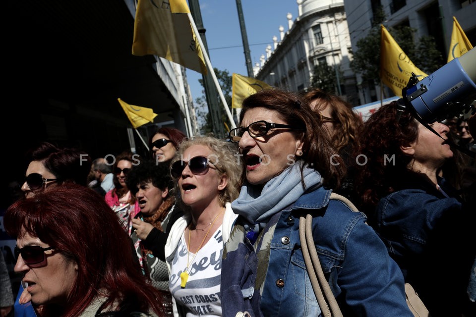
[[412,72],[419,80],[428,75],[412,63],[383,25],[380,29],[380,79],[396,96],[402,97],[402,89],[407,86]]

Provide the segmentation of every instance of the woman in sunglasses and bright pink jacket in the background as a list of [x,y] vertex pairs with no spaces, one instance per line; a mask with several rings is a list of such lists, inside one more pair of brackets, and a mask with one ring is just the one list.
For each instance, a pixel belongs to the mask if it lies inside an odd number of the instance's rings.
[[139,212],[139,205],[127,187],[126,177],[132,166],[139,164],[136,157],[138,156],[128,151],[116,157],[113,168],[116,175],[113,180],[115,188],[107,192],[105,197],[106,203],[116,212],[129,234],[132,232],[132,218]]

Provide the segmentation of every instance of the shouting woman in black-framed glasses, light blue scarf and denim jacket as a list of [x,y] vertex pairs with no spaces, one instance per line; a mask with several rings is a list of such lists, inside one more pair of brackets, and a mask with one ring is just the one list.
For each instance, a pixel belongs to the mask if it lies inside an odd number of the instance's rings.
[[294,93],[265,90],[244,100],[240,127],[230,132],[246,179],[224,250],[223,316],[321,316],[298,237],[306,213],[345,316],[413,316],[402,274],[365,215],[329,200],[344,171],[320,123]]

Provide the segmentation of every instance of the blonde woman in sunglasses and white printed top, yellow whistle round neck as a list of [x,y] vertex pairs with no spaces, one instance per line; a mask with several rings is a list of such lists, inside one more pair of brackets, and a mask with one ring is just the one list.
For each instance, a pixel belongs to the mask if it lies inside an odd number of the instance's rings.
[[180,316],[221,316],[221,259],[241,169],[231,144],[212,137],[183,141],[172,159],[185,214],[172,226],[165,256]]

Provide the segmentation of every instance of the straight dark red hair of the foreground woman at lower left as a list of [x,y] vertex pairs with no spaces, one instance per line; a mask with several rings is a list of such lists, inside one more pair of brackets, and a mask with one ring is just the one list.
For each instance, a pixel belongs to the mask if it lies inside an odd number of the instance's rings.
[[106,306],[163,315],[161,291],[147,283],[118,216],[93,190],[64,184],[19,200],[6,211],[4,226],[11,237],[29,233],[78,265],[62,316],[79,316],[96,296],[108,297]]

